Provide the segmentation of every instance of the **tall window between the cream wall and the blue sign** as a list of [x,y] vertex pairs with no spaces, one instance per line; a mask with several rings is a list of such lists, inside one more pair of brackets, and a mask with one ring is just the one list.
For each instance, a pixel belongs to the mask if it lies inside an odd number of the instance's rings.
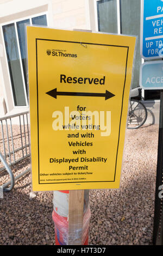
[[[141,0],[101,0],[97,1],[98,29],[101,32],[137,35],[137,49],[133,88],[139,87],[140,57],[140,4]],[[119,19],[118,19],[119,9]],[[120,24],[118,24],[118,20]]]

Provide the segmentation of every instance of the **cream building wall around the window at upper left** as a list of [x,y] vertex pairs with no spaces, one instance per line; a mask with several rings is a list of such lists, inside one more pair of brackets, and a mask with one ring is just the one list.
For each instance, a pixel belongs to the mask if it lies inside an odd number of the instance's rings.
[[28,110],[26,106],[14,106],[2,25],[46,11],[49,27],[95,30],[93,3],[94,0],[0,0],[0,117]]

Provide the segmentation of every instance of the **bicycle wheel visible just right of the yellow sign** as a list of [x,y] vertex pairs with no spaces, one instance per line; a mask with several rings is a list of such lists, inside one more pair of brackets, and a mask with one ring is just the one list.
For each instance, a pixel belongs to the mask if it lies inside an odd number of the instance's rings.
[[139,100],[130,100],[128,129],[137,129],[147,120],[147,109]]

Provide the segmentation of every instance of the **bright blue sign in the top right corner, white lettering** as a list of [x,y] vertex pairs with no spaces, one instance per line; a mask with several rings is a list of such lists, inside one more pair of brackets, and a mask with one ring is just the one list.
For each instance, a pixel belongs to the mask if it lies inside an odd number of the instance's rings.
[[163,57],[163,0],[141,0],[141,57]]

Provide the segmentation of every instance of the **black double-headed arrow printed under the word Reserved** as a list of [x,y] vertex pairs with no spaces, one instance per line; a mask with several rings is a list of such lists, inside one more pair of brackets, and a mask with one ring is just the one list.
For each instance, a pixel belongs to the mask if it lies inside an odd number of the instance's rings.
[[57,99],[57,95],[64,95],[64,96],[91,96],[91,97],[105,97],[105,100],[110,99],[111,97],[114,97],[115,95],[108,92],[106,90],[105,93],[73,93],[73,92],[57,92],[57,88],[53,90],[49,90],[46,94],[54,97]]

